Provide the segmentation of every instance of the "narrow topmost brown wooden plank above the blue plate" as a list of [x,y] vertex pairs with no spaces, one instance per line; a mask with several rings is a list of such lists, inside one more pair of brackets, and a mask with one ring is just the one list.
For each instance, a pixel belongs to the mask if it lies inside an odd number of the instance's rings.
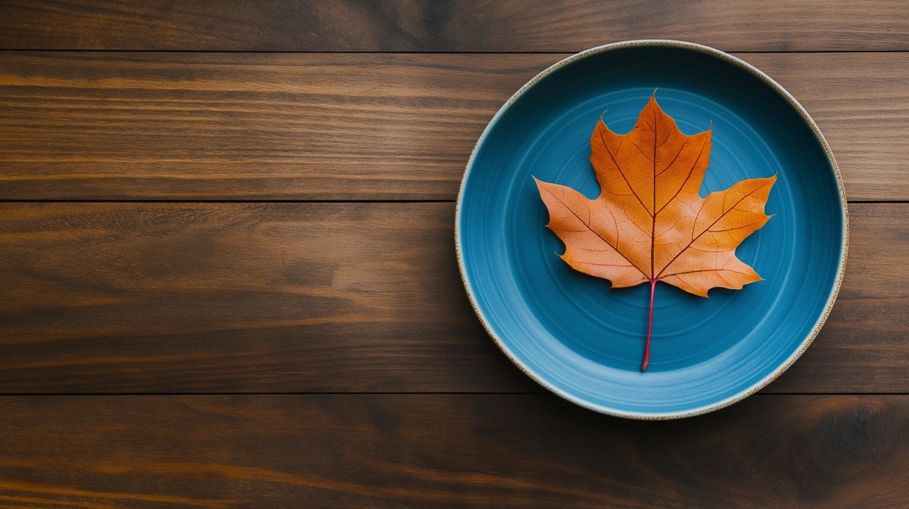
[[565,52],[659,35],[734,51],[907,50],[899,0],[4,2],[0,48]]

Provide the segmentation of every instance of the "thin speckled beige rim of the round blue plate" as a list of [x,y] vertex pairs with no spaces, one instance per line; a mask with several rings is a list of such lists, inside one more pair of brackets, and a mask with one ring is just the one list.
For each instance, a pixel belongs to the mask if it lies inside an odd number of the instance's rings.
[[[802,116],[802,119],[804,120],[804,122],[811,127],[811,130],[814,133],[814,136],[817,138],[817,141],[820,142],[820,144],[824,147],[824,153],[827,155],[827,159],[830,161],[830,165],[833,170],[834,179],[836,181],[836,186],[839,190],[840,205],[843,210],[843,231],[842,231],[843,241],[840,246],[841,255],[840,255],[839,265],[837,267],[836,277],[834,279],[834,285],[831,288],[830,294],[827,296],[827,303],[824,306],[824,311],[818,317],[817,321],[814,324],[814,327],[812,328],[812,331],[804,337],[802,343],[799,344],[798,348],[795,349],[793,354],[791,354],[782,364],[777,366],[773,372],[766,374],[764,376],[764,378],[762,378],[761,380],[757,381],[756,383],[752,384],[749,387],[744,388],[744,390],[742,390],[736,394],[733,394],[731,396],[724,398],[721,401],[718,401],[718,402],[715,402],[712,404],[704,404],[704,405],[701,405],[698,407],[694,407],[694,408],[690,408],[690,409],[686,409],[686,410],[682,410],[682,411],[630,412],[627,410],[619,410],[616,408],[611,408],[604,404],[594,404],[590,401],[585,400],[584,398],[567,393],[566,391],[559,388],[558,386],[547,382],[539,374],[534,373],[533,370],[531,370],[530,368],[525,366],[521,362],[521,360],[517,358],[517,356],[508,348],[508,346],[506,344],[504,344],[504,342],[502,341],[502,338],[500,338],[497,334],[495,334],[492,327],[490,327],[488,318],[484,314],[483,310],[480,309],[480,306],[477,304],[476,299],[474,297],[474,287],[473,287],[473,283],[470,279],[470,276],[467,274],[467,271],[466,271],[466,267],[464,264],[464,252],[463,252],[463,247],[461,245],[461,222],[462,222],[462,205],[464,203],[464,187],[467,184],[467,180],[468,180],[471,170],[473,168],[477,149],[480,147],[480,145],[483,145],[484,140],[486,139],[486,136],[492,131],[492,129],[498,123],[499,119],[504,115],[504,113],[511,107],[511,105],[514,104],[514,102],[519,97],[521,97],[521,95],[524,95],[524,93],[527,92],[531,87],[533,87],[537,82],[539,82],[541,79],[543,79],[546,75],[550,75],[550,74],[554,73],[555,71],[564,67],[565,65],[569,65],[576,60],[581,60],[581,59],[586,58],[591,55],[598,55],[601,53],[606,53],[606,52],[614,51],[617,49],[623,49],[623,48],[632,47],[632,46],[681,47],[684,49],[701,52],[706,55],[720,58],[721,60],[724,60],[725,62],[727,62],[729,64],[736,65],[736,66],[744,69],[751,75],[754,75],[754,77],[757,77],[758,79],[763,81],[765,84],[770,85],[771,88],[773,88],[777,94],[781,95]],[[554,63],[553,65],[546,67],[538,75],[535,75],[533,78],[531,78],[530,81],[528,81],[523,86],[521,86],[514,93],[514,95],[509,97],[508,100],[505,101],[504,105],[502,105],[498,109],[498,111],[495,112],[495,115],[493,115],[492,119],[485,126],[485,128],[483,130],[483,134],[480,135],[480,137],[477,139],[476,144],[474,145],[474,149],[471,151],[470,158],[467,160],[467,164],[464,167],[464,175],[461,178],[461,185],[458,189],[458,195],[457,195],[457,203],[454,207],[454,251],[455,251],[455,254],[457,255],[458,272],[461,274],[461,282],[464,284],[464,290],[466,291],[467,297],[470,300],[470,305],[471,305],[471,307],[474,308],[474,314],[476,314],[477,318],[479,318],[480,323],[483,324],[483,328],[485,329],[486,334],[489,334],[489,336],[493,339],[494,344],[496,346],[498,346],[499,350],[501,350],[502,353],[505,354],[505,356],[514,365],[516,365],[521,371],[523,371],[524,374],[526,374],[528,377],[530,377],[532,380],[534,380],[534,382],[536,382],[537,384],[542,385],[546,390],[550,391],[551,393],[556,394],[574,404],[577,404],[584,408],[593,410],[594,412],[598,412],[601,414],[607,414],[607,415],[613,415],[615,417],[623,417],[626,419],[667,420],[667,419],[681,419],[684,417],[692,417],[694,415],[707,414],[707,413],[719,410],[721,408],[724,408],[726,406],[729,406],[731,404],[737,403],[739,401],[742,401],[744,398],[760,391],[767,384],[770,384],[771,382],[773,382],[777,377],[779,377],[781,374],[783,374],[792,364],[794,364],[794,362],[800,356],[802,356],[802,354],[804,354],[804,351],[807,350],[808,346],[810,346],[812,344],[812,342],[814,341],[814,337],[816,337],[817,334],[821,331],[821,327],[824,325],[824,322],[826,322],[827,317],[830,315],[831,309],[833,309],[834,302],[836,301],[836,296],[839,294],[839,291],[840,291],[840,286],[843,284],[843,277],[844,277],[844,273],[845,273],[845,264],[846,264],[846,257],[848,255],[848,250],[849,250],[849,207],[846,202],[845,189],[844,189],[844,185],[843,185],[843,177],[842,177],[842,175],[840,175],[839,166],[836,164],[836,159],[834,158],[833,151],[830,149],[830,145],[827,144],[827,140],[826,140],[826,138],[824,138],[824,134],[821,133],[821,130],[817,126],[817,124],[814,123],[814,119],[811,117],[811,115],[808,115],[808,112],[805,111],[804,106],[801,105],[794,98],[794,96],[792,94],[790,94],[786,89],[784,89],[784,87],[782,85],[776,83],[776,81],[774,81],[773,78],[764,74],[763,71],[761,71],[754,65],[748,64],[741,58],[738,58],[737,56],[734,56],[734,55],[729,55],[728,53],[725,53],[723,51],[720,51],[720,50],[715,49],[710,46],[699,45],[696,43],[690,43],[690,42],[686,42],[686,41],[671,40],[671,39],[637,39],[637,40],[622,41],[622,42],[611,43],[611,44],[607,44],[607,45],[595,46],[590,49],[586,49],[582,52],[576,53],[574,55],[568,56],[567,58],[564,58],[564,59]]]

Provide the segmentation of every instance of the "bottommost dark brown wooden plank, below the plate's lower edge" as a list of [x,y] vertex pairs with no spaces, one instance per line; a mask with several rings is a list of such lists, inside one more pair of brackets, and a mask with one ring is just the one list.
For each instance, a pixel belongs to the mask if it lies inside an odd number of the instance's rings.
[[904,507],[909,396],[628,422],[549,394],[0,398],[0,503]]

